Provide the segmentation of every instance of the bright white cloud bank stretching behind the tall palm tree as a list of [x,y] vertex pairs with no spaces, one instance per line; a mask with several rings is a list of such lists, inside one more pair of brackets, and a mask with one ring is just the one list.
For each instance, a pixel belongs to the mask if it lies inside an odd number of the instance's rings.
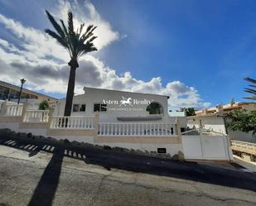
[[[56,15],[64,18],[69,7],[75,10],[74,13],[80,14],[81,11],[76,3],[60,1]],[[104,34],[103,38],[98,39],[99,48],[118,40],[118,32],[112,31],[109,22],[100,17],[90,2],[85,2],[85,8],[88,9],[89,14],[78,15],[80,19],[75,20],[76,24],[89,22],[99,26],[99,33]],[[23,26],[21,22],[16,22],[1,14],[0,23],[16,36],[17,42],[20,42],[19,45],[14,46],[11,42],[0,39],[0,79],[15,84],[17,79],[24,77],[27,79],[27,86],[34,90],[43,90],[46,93],[65,93],[69,76],[69,67],[66,65],[69,56],[66,51],[44,31]],[[84,86],[91,86],[169,95],[171,108],[210,106],[210,103],[202,101],[195,88],[188,87],[180,81],[162,85],[161,77],[143,81],[134,78],[130,72],[118,75],[114,69],[104,65],[104,62],[93,55],[81,57],[79,64],[75,93],[82,93]]]

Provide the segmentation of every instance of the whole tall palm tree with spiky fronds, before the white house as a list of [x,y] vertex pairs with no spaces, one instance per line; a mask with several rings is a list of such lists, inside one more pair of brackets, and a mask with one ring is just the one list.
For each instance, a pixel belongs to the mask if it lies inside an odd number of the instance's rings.
[[86,31],[83,32],[83,28],[85,26],[85,23],[83,23],[79,28],[77,28],[76,31],[74,31],[72,12],[68,12],[67,26],[65,26],[63,20],[60,19],[59,24],[49,12],[46,11],[46,14],[52,26],[56,30],[51,31],[50,29],[46,29],[46,33],[55,38],[60,46],[63,46],[70,55],[70,62],[68,63],[68,65],[70,65],[70,78],[65,98],[64,111],[64,116],[70,116],[75,89],[75,70],[79,67],[78,59],[81,55],[85,55],[90,51],[97,50],[93,43],[94,39],[97,38],[97,36],[94,36],[93,33],[97,26],[89,25]]

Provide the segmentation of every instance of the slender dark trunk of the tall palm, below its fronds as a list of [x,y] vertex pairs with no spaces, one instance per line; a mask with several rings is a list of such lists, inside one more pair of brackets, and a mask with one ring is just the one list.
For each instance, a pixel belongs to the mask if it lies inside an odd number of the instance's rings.
[[70,116],[72,110],[72,103],[74,97],[74,89],[75,89],[75,70],[79,67],[77,60],[70,60],[70,79],[68,84],[68,89],[66,92],[65,98],[65,111],[64,116]]

